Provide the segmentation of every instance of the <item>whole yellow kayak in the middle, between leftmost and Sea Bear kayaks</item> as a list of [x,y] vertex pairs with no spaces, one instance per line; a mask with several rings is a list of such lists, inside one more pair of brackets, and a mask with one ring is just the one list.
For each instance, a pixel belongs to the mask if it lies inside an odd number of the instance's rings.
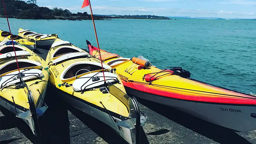
[[128,143],[140,141],[140,119],[145,116],[140,117],[136,99],[127,96],[111,67],[103,64],[103,73],[99,59],[58,38],[46,62],[50,84],[67,103],[111,126]]

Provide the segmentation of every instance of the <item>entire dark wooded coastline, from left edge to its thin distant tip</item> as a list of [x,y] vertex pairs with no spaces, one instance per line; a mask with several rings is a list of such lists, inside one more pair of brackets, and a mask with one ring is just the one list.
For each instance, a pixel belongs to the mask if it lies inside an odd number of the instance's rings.
[[[2,0],[0,1],[0,17],[6,17]],[[91,15],[87,12],[71,13],[68,9],[48,7],[38,7],[36,0],[27,2],[20,0],[5,0],[7,16],[16,19],[35,19],[35,20],[91,20]],[[111,20],[111,19],[162,19],[171,20],[168,17],[154,15],[94,15],[95,20]]]

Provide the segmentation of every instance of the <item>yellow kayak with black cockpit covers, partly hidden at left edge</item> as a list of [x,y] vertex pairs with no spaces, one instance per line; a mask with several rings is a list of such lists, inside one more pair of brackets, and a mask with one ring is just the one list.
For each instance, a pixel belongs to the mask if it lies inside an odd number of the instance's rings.
[[[14,40],[16,45],[26,46],[30,50],[34,50],[36,48],[34,39],[27,39],[14,34],[12,35],[12,39]],[[7,42],[10,40],[11,40],[10,32],[0,30],[0,42]]]

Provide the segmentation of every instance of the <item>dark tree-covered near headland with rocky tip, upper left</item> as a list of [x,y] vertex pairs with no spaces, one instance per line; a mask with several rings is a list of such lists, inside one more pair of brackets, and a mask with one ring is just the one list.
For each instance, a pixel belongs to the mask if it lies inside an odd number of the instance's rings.
[[[5,0],[5,7],[7,11],[7,16],[9,18],[16,19],[81,19],[81,20],[90,20],[91,16],[87,13],[71,13],[68,9],[62,8],[53,8],[49,9],[48,7],[38,7],[36,5],[36,0],[29,0],[27,2],[20,0]],[[0,15],[5,17],[5,10],[0,1]],[[95,19],[103,19],[104,17],[95,17]]]

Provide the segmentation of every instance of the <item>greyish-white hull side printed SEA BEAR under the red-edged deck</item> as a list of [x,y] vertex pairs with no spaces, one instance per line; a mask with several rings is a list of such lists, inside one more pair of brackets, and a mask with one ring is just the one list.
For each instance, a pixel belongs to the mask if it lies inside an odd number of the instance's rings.
[[167,98],[141,92],[125,86],[128,95],[167,105],[213,124],[237,131],[252,131],[256,129],[256,105],[235,105],[207,103]]

